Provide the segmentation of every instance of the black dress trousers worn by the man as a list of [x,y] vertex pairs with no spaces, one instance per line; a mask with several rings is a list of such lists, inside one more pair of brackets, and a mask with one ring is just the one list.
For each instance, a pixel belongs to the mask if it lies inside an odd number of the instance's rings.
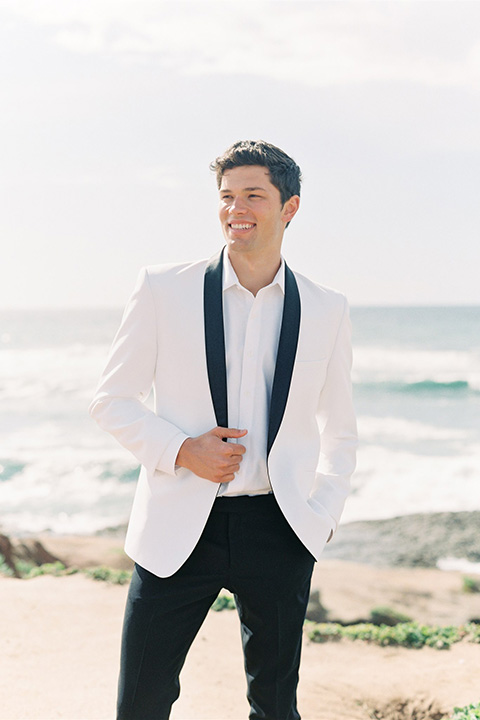
[[188,649],[222,588],[234,594],[240,617],[250,720],[299,720],[302,626],[314,562],[273,494],[217,499],[174,575],[159,578],[135,566],[117,720],[168,720]]

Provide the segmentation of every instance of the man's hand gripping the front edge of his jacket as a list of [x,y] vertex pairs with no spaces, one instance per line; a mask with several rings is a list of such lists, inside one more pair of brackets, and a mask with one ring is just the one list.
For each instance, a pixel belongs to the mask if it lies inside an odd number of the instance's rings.
[[187,438],[180,446],[175,464],[214,483],[231,482],[240,470],[245,447],[223,442],[223,438],[240,438],[247,432],[216,427],[198,437]]

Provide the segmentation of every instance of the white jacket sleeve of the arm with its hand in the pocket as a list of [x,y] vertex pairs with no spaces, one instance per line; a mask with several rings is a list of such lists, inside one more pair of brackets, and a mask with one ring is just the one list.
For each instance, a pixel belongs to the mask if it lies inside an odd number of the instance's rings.
[[326,510],[337,529],[355,469],[357,426],[352,399],[352,345],[349,309],[343,315],[320,394],[317,422],[321,452],[309,504]]

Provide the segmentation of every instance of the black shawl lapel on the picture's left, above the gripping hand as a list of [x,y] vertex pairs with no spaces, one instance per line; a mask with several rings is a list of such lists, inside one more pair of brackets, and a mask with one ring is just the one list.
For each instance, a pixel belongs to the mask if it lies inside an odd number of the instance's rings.
[[205,269],[203,316],[208,382],[215,418],[219,427],[228,427],[227,368],[223,331],[223,252],[215,255]]

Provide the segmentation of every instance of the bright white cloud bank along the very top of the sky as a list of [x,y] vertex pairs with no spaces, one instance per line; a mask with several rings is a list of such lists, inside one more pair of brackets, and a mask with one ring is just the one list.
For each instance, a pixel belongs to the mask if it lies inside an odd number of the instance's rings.
[[480,87],[480,4],[462,0],[10,0],[3,7],[71,52],[183,74]]

